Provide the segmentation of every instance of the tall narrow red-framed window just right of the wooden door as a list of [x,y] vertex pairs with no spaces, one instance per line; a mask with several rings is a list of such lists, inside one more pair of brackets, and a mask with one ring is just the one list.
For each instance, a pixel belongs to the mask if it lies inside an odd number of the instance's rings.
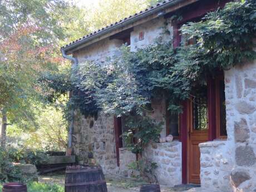
[[225,105],[225,82],[224,75],[215,80],[216,89],[216,136],[217,139],[227,139],[227,121]]

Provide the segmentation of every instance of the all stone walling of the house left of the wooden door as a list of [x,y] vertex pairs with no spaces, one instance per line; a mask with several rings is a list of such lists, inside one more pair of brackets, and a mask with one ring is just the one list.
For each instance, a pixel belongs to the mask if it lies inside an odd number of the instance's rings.
[[[173,27],[170,19],[159,17],[142,23],[140,26],[135,26],[134,31],[131,32],[131,51],[136,51],[137,48],[154,43],[155,38],[162,35],[164,29],[168,29],[170,34],[166,33],[163,40],[170,41],[173,37]],[[143,38],[140,38],[141,33],[143,33]],[[94,61],[101,65],[106,65],[107,57],[118,54],[118,48],[122,43],[121,40],[106,38],[76,51],[73,56],[77,57],[78,65],[82,65],[86,61]],[[165,137],[165,100],[163,98],[155,99],[152,102],[152,107],[154,111],[148,112],[147,115],[157,122],[163,123],[161,137]],[[78,156],[80,163],[96,161],[102,166],[105,173],[121,174],[122,176],[130,176],[132,174],[127,169],[127,165],[136,160],[136,157],[126,149],[120,149],[120,168],[117,167],[113,116],[99,114],[98,119],[95,119],[94,117],[84,117],[76,112],[72,149],[74,154]],[[160,183],[170,186],[181,184],[180,142],[152,144],[146,149],[145,155],[159,164],[156,174]],[[90,159],[92,156],[93,159]]]

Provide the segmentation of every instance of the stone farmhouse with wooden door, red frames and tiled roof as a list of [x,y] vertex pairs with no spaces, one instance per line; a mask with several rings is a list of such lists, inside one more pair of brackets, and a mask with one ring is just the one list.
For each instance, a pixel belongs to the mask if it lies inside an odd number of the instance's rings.
[[[61,51],[73,65],[85,61],[104,65],[124,43],[131,51],[154,43],[166,22],[170,35],[164,38],[173,40],[176,47],[182,39],[182,24],[198,21],[227,2],[165,1],[84,36]],[[173,22],[177,13],[182,19]],[[165,122],[161,138],[174,136],[172,142],[152,143],[144,152],[159,165],[157,179],[169,186],[200,184],[215,191],[256,191],[256,61],[220,72],[200,90],[197,102],[185,101],[179,116],[166,110],[164,100],[152,101],[154,112],[150,115]],[[200,122],[202,117],[206,124]],[[105,173],[129,176],[127,164],[136,156],[120,138],[124,121],[105,114],[97,119],[83,117],[75,111],[71,147],[80,163],[88,163],[93,155]]]

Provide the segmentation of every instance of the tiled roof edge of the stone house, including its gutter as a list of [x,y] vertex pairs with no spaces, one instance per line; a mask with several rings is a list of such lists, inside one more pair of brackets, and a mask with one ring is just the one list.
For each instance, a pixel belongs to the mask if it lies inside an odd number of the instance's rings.
[[[144,11],[140,11],[139,13],[135,13],[134,15],[131,15],[129,17],[126,17],[124,19],[121,19],[119,22],[115,22],[110,24],[109,26],[103,27],[95,32],[92,32],[86,36],[83,36],[79,38],[76,41],[70,42],[66,46],[61,47],[62,51],[70,51],[73,48],[82,45],[85,42],[91,41],[93,38],[99,37],[101,35],[104,35],[107,32],[110,32],[111,29],[114,30],[116,28],[121,28],[123,26],[126,26],[126,24],[129,24],[130,22],[137,21],[141,18],[144,18],[146,16],[149,16],[151,14],[156,13],[157,11],[161,11],[164,8],[170,7],[176,3],[182,2],[184,0],[167,0],[161,3],[157,3],[156,6],[151,6],[149,8],[146,8]],[[105,32],[105,33],[104,33]]]

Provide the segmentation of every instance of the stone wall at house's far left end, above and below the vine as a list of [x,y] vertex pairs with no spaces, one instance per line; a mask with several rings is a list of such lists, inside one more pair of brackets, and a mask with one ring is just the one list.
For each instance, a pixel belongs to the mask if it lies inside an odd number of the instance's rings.
[[[120,40],[105,40],[76,51],[73,55],[78,65],[86,61],[106,64],[108,57],[117,53],[122,45]],[[114,116],[100,113],[97,118],[85,117],[75,113],[72,137],[72,150],[81,164],[96,163],[102,166],[105,174],[117,174],[116,143],[114,132]]]

